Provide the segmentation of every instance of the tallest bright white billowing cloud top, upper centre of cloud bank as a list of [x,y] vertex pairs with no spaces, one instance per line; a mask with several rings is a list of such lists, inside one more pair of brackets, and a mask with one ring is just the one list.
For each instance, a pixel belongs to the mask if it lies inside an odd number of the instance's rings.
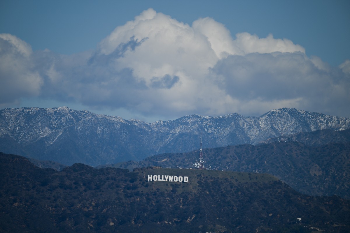
[[[117,70],[130,68],[134,77],[152,85],[154,77],[177,75],[181,72],[204,75],[218,60],[207,38],[188,24],[148,9],[134,21],[117,27],[99,45],[99,54],[111,54],[126,44],[131,46],[120,57],[114,57]],[[179,73],[180,72],[180,73]]]

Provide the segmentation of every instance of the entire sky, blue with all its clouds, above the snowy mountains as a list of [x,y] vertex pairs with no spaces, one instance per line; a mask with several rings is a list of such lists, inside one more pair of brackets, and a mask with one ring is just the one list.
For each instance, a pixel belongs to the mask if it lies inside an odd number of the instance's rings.
[[349,12],[349,1],[1,1],[0,107],[350,117]]

